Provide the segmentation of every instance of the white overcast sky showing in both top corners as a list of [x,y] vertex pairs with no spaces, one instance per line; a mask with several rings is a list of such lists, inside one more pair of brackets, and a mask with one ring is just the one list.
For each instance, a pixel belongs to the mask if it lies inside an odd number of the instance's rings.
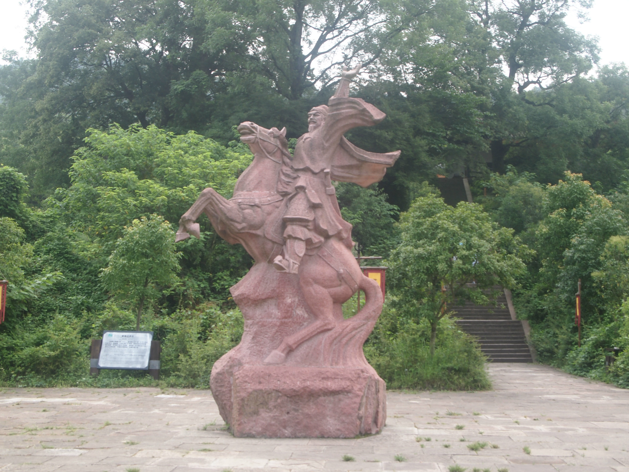
[[[26,6],[22,0],[2,0],[0,14],[0,51],[16,50],[19,55],[28,55],[24,41],[27,25]],[[625,62],[629,65],[629,0],[594,0],[593,8],[587,11],[589,21],[580,24],[576,15],[569,18],[572,28],[586,35],[599,37],[601,65]]]

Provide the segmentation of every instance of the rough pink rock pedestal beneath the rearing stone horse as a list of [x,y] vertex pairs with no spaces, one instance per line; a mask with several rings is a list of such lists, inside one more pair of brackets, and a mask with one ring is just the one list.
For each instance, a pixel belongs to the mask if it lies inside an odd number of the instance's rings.
[[245,331],[214,364],[210,385],[233,435],[355,437],[384,427],[386,385],[362,352],[373,315],[342,320],[301,344],[284,364],[265,365],[277,339],[311,322],[298,278],[256,264],[231,293]]

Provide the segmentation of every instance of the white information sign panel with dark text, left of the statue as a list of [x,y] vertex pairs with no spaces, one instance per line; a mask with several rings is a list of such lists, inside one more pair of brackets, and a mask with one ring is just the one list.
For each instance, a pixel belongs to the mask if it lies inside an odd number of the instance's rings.
[[105,331],[97,367],[148,370],[152,340],[152,331]]

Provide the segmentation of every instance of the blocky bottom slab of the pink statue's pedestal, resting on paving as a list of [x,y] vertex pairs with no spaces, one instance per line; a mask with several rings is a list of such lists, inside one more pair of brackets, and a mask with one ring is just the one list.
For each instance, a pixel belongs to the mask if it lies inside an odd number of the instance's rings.
[[[386,386],[370,369],[241,366],[214,390],[221,413],[230,409],[236,437],[355,437],[375,434],[386,420]],[[218,393],[223,393],[221,398]],[[225,408],[225,407],[231,408]]]

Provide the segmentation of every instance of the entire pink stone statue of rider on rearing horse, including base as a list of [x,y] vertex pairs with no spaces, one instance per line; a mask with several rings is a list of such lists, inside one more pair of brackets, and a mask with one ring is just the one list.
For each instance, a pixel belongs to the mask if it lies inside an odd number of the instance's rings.
[[[294,156],[286,128],[241,123],[240,139],[254,157],[233,197],[207,188],[179,222],[177,241],[199,237],[194,222],[205,213],[223,239],[242,244],[255,261],[231,288],[245,318],[242,340],[216,361],[210,379],[234,435],[353,437],[384,426],[384,381],[362,352],[382,293],[352,254],[352,225],[332,183],[369,186],[399,156],[366,152],[343,137],[385,117],[348,98],[359,69],[343,68],[335,96],[308,113],[308,133]],[[359,289],[365,305],[344,320],[342,304]]]

